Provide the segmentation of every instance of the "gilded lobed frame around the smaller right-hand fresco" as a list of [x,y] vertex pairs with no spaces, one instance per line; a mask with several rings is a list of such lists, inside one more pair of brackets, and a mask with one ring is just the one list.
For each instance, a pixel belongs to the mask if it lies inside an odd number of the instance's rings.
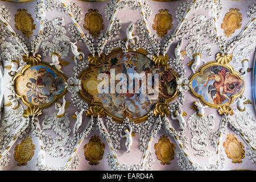
[[[195,91],[192,88],[193,79],[198,75],[202,75],[205,69],[207,69],[209,67],[212,67],[214,65],[218,65],[218,66],[221,66],[221,67],[228,68],[229,71],[230,71],[230,74],[237,76],[238,78],[240,78],[243,81],[243,87],[241,88],[240,92],[230,96],[230,102],[225,102],[224,104],[211,104],[211,103],[205,101],[203,96],[195,93]],[[243,92],[245,91],[245,81],[241,77],[240,73],[234,71],[232,65],[230,65],[230,64],[220,64],[220,63],[217,63],[217,61],[210,61],[209,63],[204,64],[203,66],[200,67],[199,71],[197,71],[196,73],[191,75],[188,78],[188,80],[189,80],[189,92],[192,94],[192,96],[195,97],[195,98],[198,98],[204,105],[207,105],[207,106],[209,106],[211,108],[214,108],[214,109],[220,109],[220,107],[223,106],[223,105],[230,106],[234,102],[234,100],[236,100],[236,98],[240,97],[243,94]]]

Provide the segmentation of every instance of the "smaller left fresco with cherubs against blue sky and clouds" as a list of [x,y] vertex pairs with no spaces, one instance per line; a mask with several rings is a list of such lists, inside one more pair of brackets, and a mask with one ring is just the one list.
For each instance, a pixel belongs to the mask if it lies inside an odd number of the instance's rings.
[[26,105],[47,107],[65,90],[65,76],[43,63],[24,67],[14,80],[15,91]]

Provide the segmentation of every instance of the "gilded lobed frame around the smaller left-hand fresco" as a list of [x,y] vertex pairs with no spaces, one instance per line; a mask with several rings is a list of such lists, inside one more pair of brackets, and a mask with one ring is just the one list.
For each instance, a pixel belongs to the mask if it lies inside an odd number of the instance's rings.
[[[15,82],[18,79],[19,76],[23,76],[24,73],[27,71],[27,69],[30,69],[30,68],[36,67],[36,66],[43,66],[43,67],[47,67],[47,68],[51,69],[55,73],[56,76],[60,76],[61,78],[63,78],[64,82],[67,82],[67,77],[63,73],[57,71],[57,69],[55,67],[52,67],[51,65],[49,65],[48,63],[43,62],[43,61],[40,62],[39,64],[36,64],[36,65],[33,65],[33,66],[32,65],[26,65],[22,69],[22,71],[16,73],[16,75],[13,77],[13,81]],[[16,84],[15,84],[15,92],[16,92]],[[64,88],[64,90],[61,94],[55,96],[51,102],[48,102],[47,104],[44,104],[44,105],[33,105],[29,101],[27,101],[26,96],[21,96],[21,95],[18,94],[18,92],[16,92],[16,96],[19,97],[22,100],[23,104],[25,104],[28,107],[29,106],[37,106],[40,109],[46,109],[47,107],[53,105],[57,100],[62,98],[64,96],[64,94],[66,94],[66,93],[67,93],[67,88]]]

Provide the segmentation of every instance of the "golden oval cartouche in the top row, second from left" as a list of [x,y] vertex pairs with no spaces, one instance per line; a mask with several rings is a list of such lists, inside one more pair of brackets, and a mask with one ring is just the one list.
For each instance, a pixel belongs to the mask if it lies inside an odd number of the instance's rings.
[[98,10],[89,9],[88,11],[89,13],[86,13],[84,18],[84,28],[93,38],[97,38],[100,31],[104,29],[102,15],[97,13]]

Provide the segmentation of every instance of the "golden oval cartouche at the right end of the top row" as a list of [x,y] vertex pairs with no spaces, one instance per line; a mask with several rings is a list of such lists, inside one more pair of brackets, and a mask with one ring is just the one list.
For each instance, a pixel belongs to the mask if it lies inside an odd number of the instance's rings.
[[242,24],[242,14],[238,13],[239,9],[229,9],[229,13],[226,13],[223,23],[221,23],[221,28],[224,29],[225,36],[229,37],[234,34],[234,32],[241,28]]

